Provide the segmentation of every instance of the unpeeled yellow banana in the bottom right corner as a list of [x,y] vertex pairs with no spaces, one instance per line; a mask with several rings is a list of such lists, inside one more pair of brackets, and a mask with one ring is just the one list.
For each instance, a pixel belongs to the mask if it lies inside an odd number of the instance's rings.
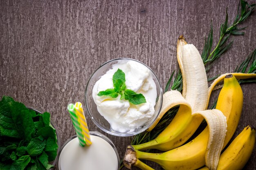
[[[217,170],[242,170],[252,155],[254,144],[255,128],[247,126],[220,155]],[[209,170],[209,168],[204,167],[199,170]]]

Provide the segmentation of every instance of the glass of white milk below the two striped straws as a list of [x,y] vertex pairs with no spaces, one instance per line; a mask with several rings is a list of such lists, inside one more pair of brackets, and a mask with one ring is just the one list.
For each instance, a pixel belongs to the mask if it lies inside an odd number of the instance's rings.
[[90,132],[92,145],[81,147],[77,136],[68,139],[57,158],[57,170],[119,170],[120,158],[113,142],[100,132]]

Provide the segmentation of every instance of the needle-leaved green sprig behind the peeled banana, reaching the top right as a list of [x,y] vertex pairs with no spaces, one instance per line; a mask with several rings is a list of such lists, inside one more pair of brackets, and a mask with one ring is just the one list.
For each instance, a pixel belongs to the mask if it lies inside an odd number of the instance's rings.
[[[239,9],[241,6],[241,10],[239,13]],[[202,60],[204,62],[205,71],[208,72],[214,63],[222,54],[224,54],[232,45],[233,41],[226,44],[227,40],[229,39],[230,35],[244,35],[244,32],[240,32],[247,27],[238,28],[238,24],[242,23],[244,20],[248,18],[248,16],[252,13],[255,8],[255,4],[248,4],[244,0],[240,0],[240,5],[238,5],[238,14],[233,22],[233,24],[228,25],[228,14],[226,10],[226,18],[225,22],[220,26],[220,39],[218,44],[216,45],[215,49],[211,51],[213,45],[213,26],[211,25],[211,29],[209,31],[207,39],[204,42],[204,49],[202,51]],[[169,85],[171,83],[171,79],[173,78],[174,71],[169,79],[165,91],[168,91]],[[173,82],[173,86],[171,89],[176,89],[178,91],[182,91],[182,75],[179,71],[176,75],[176,78]]]

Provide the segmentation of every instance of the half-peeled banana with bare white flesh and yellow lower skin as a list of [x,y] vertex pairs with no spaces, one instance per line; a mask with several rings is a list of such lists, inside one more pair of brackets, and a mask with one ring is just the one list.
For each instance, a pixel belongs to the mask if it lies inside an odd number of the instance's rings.
[[156,126],[170,108],[177,105],[180,105],[180,108],[171,123],[157,138],[144,144],[133,145],[136,150],[155,148],[167,151],[177,148],[193,135],[203,120],[203,117],[192,116],[191,113],[207,108],[207,75],[200,53],[193,44],[187,44],[182,35],[177,41],[177,59],[182,71],[184,98],[176,99],[177,93],[180,93],[178,91],[164,93],[162,110],[148,131]]

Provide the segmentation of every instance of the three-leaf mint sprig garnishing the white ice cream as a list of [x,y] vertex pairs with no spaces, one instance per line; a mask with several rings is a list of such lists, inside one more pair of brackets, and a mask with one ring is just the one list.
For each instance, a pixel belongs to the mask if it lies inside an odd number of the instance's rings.
[[141,93],[136,93],[130,89],[126,89],[125,84],[125,73],[121,69],[117,69],[112,77],[114,88],[108,88],[105,91],[100,91],[98,96],[110,96],[116,98],[119,94],[121,95],[120,99],[126,99],[131,104],[142,104],[146,103],[144,95]]

